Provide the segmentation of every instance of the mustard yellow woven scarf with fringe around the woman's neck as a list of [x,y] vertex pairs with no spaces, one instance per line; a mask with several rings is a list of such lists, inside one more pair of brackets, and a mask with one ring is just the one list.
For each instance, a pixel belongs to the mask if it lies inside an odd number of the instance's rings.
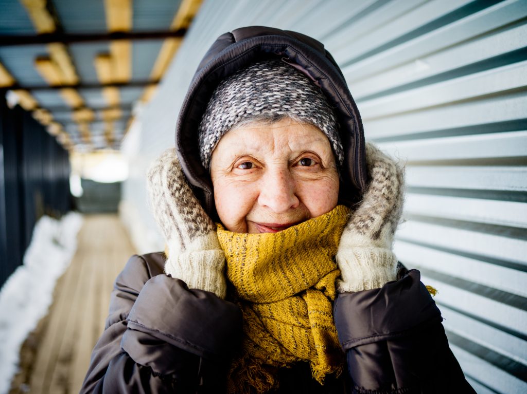
[[349,209],[275,234],[232,233],[218,225],[233,299],[243,314],[242,350],[229,374],[228,392],[276,388],[276,371],[309,361],[321,384],[344,365],[332,301],[340,271],[334,261]]

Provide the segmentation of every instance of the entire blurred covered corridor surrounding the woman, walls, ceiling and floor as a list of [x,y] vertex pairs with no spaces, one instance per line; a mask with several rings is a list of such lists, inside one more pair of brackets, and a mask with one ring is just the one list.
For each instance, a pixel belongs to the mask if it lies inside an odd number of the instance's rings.
[[79,391],[116,275],[164,248],[148,165],[208,47],[250,25],[324,43],[406,163],[395,252],[467,379],[527,392],[525,0],[0,0],[0,394]]

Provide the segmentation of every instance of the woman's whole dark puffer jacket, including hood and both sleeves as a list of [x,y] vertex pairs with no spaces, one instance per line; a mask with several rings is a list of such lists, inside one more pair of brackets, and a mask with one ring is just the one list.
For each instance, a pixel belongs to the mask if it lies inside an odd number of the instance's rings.
[[[353,203],[367,184],[360,116],[323,45],[278,29],[238,29],[222,35],[203,59],[176,134],[185,175],[212,217],[212,185],[198,153],[199,120],[221,79],[272,57],[308,75],[336,108],[346,152],[340,203]],[[211,292],[165,276],[163,265],[160,253],[133,256],[116,279],[82,393],[225,391],[230,359],[240,345],[241,313]],[[401,278],[380,289],[339,295],[334,316],[348,373],[329,376],[320,386],[309,366],[299,363],[279,371],[277,392],[473,393],[448,348],[440,311],[419,279],[416,270],[402,271]]]

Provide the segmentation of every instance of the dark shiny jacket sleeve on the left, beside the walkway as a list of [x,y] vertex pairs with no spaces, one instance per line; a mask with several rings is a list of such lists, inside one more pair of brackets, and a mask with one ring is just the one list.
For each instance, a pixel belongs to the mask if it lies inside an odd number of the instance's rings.
[[115,280],[81,393],[222,391],[241,313],[162,274],[160,256],[132,256]]

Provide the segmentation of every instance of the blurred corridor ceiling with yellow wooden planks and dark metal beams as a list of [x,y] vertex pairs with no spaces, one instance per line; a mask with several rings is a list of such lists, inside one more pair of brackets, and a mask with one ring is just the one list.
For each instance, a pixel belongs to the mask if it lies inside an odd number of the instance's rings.
[[118,150],[200,5],[0,0],[0,93],[69,150]]

